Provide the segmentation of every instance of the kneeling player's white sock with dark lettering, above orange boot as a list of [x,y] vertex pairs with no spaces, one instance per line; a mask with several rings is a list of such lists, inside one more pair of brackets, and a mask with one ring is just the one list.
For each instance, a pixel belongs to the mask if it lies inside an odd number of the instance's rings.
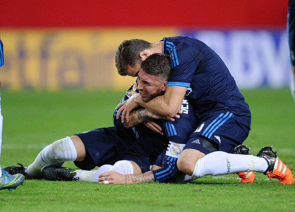
[[268,167],[264,158],[252,155],[237,155],[226,152],[212,152],[199,159],[192,177],[223,175],[245,171],[265,172]]

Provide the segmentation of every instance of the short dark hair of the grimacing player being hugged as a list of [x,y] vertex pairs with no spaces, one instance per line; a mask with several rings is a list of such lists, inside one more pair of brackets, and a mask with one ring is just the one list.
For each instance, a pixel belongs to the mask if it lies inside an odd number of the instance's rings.
[[171,74],[170,56],[162,53],[151,54],[141,64],[141,68],[149,75],[156,76],[160,80],[167,80]]

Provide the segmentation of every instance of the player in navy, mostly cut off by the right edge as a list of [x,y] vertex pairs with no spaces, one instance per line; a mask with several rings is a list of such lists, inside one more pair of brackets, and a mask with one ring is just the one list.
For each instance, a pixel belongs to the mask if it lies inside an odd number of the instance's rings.
[[290,48],[290,59],[292,65],[292,76],[291,79],[291,93],[293,99],[295,101],[295,0],[289,0],[288,6],[288,25],[287,25],[287,33],[288,33],[288,42]]

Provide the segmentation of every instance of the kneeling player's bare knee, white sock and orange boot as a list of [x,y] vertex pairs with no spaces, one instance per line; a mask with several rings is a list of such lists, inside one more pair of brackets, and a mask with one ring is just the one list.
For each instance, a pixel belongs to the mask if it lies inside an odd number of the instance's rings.
[[277,157],[272,147],[263,147],[257,156],[215,151],[196,161],[198,156],[201,154],[197,150],[183,150],[178,158],[178,169],[193,178],[255,171],[264,173],[270,179],[278,179],[281,184],[294,182],[292,171]]

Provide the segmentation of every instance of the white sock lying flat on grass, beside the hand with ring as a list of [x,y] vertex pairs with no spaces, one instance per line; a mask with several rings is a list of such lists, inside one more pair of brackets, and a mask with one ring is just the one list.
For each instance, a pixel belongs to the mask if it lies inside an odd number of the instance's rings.
[[133,174],[133,165],[128,160],[119,160],[114,165],[102,165],[94,171],[79,170],[75,178],[79,177],[79,181],[98,182],[99,175],[107,171],[115,171],[123,175]]

